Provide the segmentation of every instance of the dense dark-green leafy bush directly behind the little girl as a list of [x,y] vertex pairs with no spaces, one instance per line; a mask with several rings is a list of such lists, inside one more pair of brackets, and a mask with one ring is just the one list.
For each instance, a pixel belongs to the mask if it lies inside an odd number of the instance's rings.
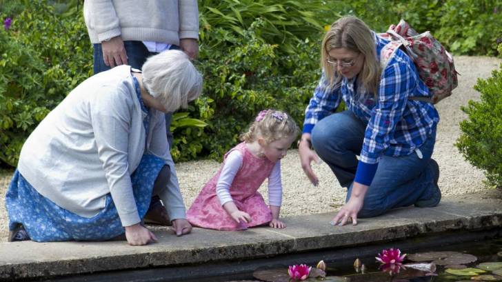
[[265,108],[286,110],[301,123],[312,81],[319,78],[319,41],[296,40],[297,52],[289,53],[259,37],[265,26],[258,18],[242,34],[227,28],[203,31],[210,43],[220,40],[214,46],[202,41],[199,54],[204,94],[195,101],[192,116],[208,126],[175,130],[173,156],[183,160],[196,152],[221,158]]

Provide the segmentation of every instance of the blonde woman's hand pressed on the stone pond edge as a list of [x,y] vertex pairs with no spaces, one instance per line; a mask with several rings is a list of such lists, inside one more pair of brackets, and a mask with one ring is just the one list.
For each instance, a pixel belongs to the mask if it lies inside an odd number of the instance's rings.
[[363,208],[364,195],[368,191],[367,185],[357,183],[354,181],[352,186],[352,193],[350,194],[350,199],[341,210],[334,216],[331,225],[345,225],[349,219],[352,219],[352,225],[357,225],[357,214]]

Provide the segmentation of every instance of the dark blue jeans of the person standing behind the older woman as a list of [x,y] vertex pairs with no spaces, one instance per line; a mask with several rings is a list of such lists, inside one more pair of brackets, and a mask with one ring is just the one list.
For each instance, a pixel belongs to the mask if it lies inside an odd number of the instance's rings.
[[[145,63],[148,57],[153,56],[154,52],[148,51],[146,46],[141,41],[123,41],[125,48],[125,53],[128,57],[128,64],[132,68],[137,68],[141,70],[143,63]],[[179,49],[178,46],[172,45],[171,49]],[[103,60],[103,49],[101,49],[101,44],[94,44],[94,74],[99,72],[104,72],[105,70],[110,70],[110,66],[105,65]],[[168,134],[169,148],[172,147],[172,133],[170,130],[172,120],[172,112],[165,114],[165,131]]]

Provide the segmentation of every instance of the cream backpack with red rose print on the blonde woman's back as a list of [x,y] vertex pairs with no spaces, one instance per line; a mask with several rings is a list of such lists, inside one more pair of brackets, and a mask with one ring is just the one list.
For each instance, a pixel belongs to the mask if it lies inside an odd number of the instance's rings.
[[429,88],[432,98],[411,97],[412,100],[437,103],[450,96],[458,85],[453,58],[430,32],[419,34],[401,19],[397,26],[390,26],[385,33],[378,34],[390,40],[380,53],[380,64],[384,69],[394,52],[404,48],[419,71],[420,79]]

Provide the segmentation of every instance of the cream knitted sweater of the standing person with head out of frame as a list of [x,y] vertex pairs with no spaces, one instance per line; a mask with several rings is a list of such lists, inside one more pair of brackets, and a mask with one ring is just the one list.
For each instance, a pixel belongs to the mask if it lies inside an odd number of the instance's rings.
[[112,37],[179,45],[199,39],[197,0],[86,0],[83,17],[91,43]]

